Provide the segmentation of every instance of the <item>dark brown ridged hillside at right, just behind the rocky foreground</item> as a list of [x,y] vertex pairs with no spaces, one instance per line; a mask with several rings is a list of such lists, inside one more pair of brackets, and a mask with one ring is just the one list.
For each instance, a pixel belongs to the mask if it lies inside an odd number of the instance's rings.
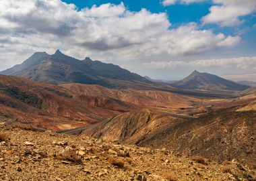
[[228,109],[210,111],[199,118],[141,109],[92,125],[84,134],[116,143],[166,147],[177,154],[201,155],[218,162],[236,159],[253,168],[256,112],[245,109],[253,103],[255,99],[243,106],[229,104]]

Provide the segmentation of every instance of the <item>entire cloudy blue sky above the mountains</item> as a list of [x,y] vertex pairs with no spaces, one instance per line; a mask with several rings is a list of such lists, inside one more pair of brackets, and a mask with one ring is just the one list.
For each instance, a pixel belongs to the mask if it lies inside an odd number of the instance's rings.
[[256,73],[255,0],[0,0],[0,70],[59,49],[155,79]]

